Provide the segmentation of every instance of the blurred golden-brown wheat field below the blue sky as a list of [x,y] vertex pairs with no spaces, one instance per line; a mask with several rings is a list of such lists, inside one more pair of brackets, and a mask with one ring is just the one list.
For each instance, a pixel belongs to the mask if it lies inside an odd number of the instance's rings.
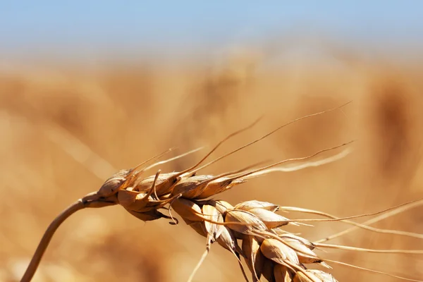
[[[207,168],[304,157],[357,140],[345,159],[318,168],[249,180],[220,197],[233,204],[263,200],[338,216],[376,212],[423,196],[423,65],[339,59],[266,68],[237,59],[213,68],[108,65],[86,71],[34,68],[0,75],[0,281],[18,281],[49,222],[121,168],[178,147],[176,155],[226,143],[218,156],[294,118],[353,100],[342,110],[300,121]],[[205,150],[166,164],[180,171]],[[153,174],[153,172],[151,173]],[[423,209],[375,226],[423,233]],[[298,214],[289,214],[295,218]],[[313,216],[315,217],[315,216]],[[364,221],[360,219],[359,221]],[[315,223],[293,228],[309,240],[348,228]],[[423,249],[422,240],[355,231],[333,243]],[[86,209],[54,236],[34,281],[186,281],[204,238],[185,223],[143,223],[121,207]],[[422,255],[369,255],[330,250],[334,259],[421,278]],[[333,265],[339,281],[397,281]],[[196,281],[243,281],[218,245]]]

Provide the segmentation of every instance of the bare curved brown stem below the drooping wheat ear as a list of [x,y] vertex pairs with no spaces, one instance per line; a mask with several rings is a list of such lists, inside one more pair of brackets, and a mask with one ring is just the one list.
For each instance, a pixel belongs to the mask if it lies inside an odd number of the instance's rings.
[[46,232],[44,232],[44,235],[42,236],[42,239],[39,241],[37,250],[35,250],[34,255],[32,256],[31,262],[28,265],[25,274],[23,274],[22,279],[20,279],[20,282],[29,282],[32,279],[32,276],[34,276],[35,271],[37,271],[39,262],[42,259],[42,256],[44,255],[44,252],[47,249],[47,246],[50,243],[51,238],[53,237],[54,233],[56,232],[57,228],[65,221],[69,216],[74,214],[75,212],[78,212],[80,209],[84,209],[85,204],[82,202],[82,199],[74,202],[69,206],[67,209],[65,209],[59,216],[54,219],[54,221],[51,221],[49,227],[47,228]]

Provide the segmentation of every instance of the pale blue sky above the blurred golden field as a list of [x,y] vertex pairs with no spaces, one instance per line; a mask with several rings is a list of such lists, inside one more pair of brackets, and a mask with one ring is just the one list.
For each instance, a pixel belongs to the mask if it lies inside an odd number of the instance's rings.
[[293,36],[422,47],[423,1],[5,1],[0,52],[194,54]]

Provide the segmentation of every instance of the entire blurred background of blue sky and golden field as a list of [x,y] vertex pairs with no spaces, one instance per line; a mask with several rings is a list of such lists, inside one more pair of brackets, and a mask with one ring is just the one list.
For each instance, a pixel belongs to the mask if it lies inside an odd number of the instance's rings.
[[[0,3],[0,281],[18,281],[54,217],[114,172],[169,147],[178,147],[173,155],[210,148],[263,114],[214,156],[299,116],[353,101],[204,173],[357,140],[353,154],[256,178],[219,198],[350,216],[423,196],[422,2]],[[202,154],[162,171],[180,171]],[[423,233],[422,214],[419,207],[375,226]],[[293,231],[318,240],[345,228],[332,222]],[[332,243],[423,249],[421,240],[369,231]],[[186,281],[204,248],[205,239],[185,223],[143,223],[121,207],[87,209],[59,228],[34,281]],[[423,276],[418,255],[330,250],[325,256]],[[398,281],[333,266],[339,281]],[[195,281],[243,276],[216,245]]]

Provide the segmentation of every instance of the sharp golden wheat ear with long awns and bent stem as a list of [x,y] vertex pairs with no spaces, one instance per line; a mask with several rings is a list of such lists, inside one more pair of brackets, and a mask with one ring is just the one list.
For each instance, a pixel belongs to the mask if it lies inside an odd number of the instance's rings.
[[[340,107],[336,107],[328,111],[333,111],[339,108]],[[171,212],[173,210],[188,226],[206,238],[206,250],[200,259],[200,262],[197,264],[194,271],[192,271],[188,281],[191,281],[195,276],[195,271],[200,268],[202,262],[206,259],[207,254],[211,250],[212,244],[216,242],[235,256],[246,281],[248,281],[248,278],[247,274],[245,274],[245,269],[241,259],[244,259],[245,264],[247,264],[251,273],[252,281],[259,281],[261,277],[266,278],[268,281],[336,281],[336,279],[326,271],[309,269],[309,266],[321,264],[327,269],[331,269],[331,266],[329,266],[327,262],[351,266],[343,262],[336,262],[331,259],[324,259],[320,257],[316,252],[314,252],[316,247],[356,250],[360,252],[422,254],[423,252],[419,250],[370,250],[340,245],[329,245],[321,242],[312,243],[306,238],[283,231],[281,227],[288,224],[300,226],[304,224],[301,223],[301,221],[321,221],[323,219],[291,220],[277,214],[277,212],[278,210],[284,210],[319,214],[321,216],[329,217],[329,221],[345,221],[346,223],[355,225],[357,228],[367,228],[376,232],[394,233],[393,231],[376,228],[372,229],[365,224],[349,221],[349,219],[353,218],[353,216],[348,218],[338,218],[323,212],[293,207],[280,207],[278,204],[260,202],[257,200],[241,202],[233,206],[223,200],[211,199],[214,195],[231,189],[235,185],[240,185],[253,177],[262,176],[274,171],[295,171],[309,166],[319,166],[341,159],[348,154],[348,149],[344,149],[342,152],[331,157],[314,161],[310,160],[323,152],[345,147],[346,145],[349,145],[350,142],[328,149],[322,149],[321,151],[307,157],[286,159],[267,166],[259,167],[259,164],[255,164],[238,171],[221,173],[218,176],[196,174],[202,168],[205,168],[230,154],[238,152],[240,149],[259,142],[259,140],[268,137],[286,125],[295,121],[300,121],[304,118],[324,114],[328,111],[303,116],[295,119],[294,121],[290,121],[257,140],[249,142],[247,145],[243,145],[242,147],[214,159],[214,161],[210,161],[203,166],[200,166],[202,162],[204,162],[205,159],[207,159],[207,157],[209,157],[209,155],[217,149],[217,147],[229,138],[238,135],[248,128],[251,128],[258,120],[255,121],[255,123],[252,123],[252,125],[228,135],[228,137],[219,142],[219,144],[206,154],[206,156],[204,156],[197,164],[185,169],[184,171],[161,173],[161,171],[158,170],[157,173],[152,176],[143,176],[145,171],[154,168],[154,166],[184,157],[187,154],[196,152],[198,149],[181,154],[178,157],[174,157],[166,161],[158,161],[152,165],[147,165],[149,161],[157,160],[159,157],[166,154],[166,152],[169,151],[168,150],[143,162],[135,168],[118,171],[114,174],[114,176],[106,180],[97,192],[92,192],[85,197],[82,197],[82,199],[72,204],[51,222],[49,228],[47,228],[47,231],[44,233],[44,236],[40,241],[21,281],[27,282],[32,279],[32,276],[35,274],[37,266],[39,265],[42,255],[47,249],[47,245],[49,245],[54,232],[60,224],[68,218],[68,216],[71,216],[71,214],[77,212],[78,210],[87,207],[97,208],[115,204],[120,204],[130,214],[142,221],[153,221],[165,218],[171,219],[172,224],[178,224],[178,220],[173,217]],[[395,207],[394,209],[391,209],[391,212],[395,209],[405,210],[407,205],[411,204],[412,203],[407,203],[401,207]],[[167,209],[168,215],[159,211],[162,209]],[[396,234],[410,235],[403,233]],[[415,235],[415,237],[417,237],[417,235]],[[353,267],[366,271],[373,271],[371,269],[361,268],[360,266]],[[374,272],[381,273],[380,271]],[[391,274],[386,275],[393,276]],[[408,281],[418,281],[399,276],[393,277]]]

